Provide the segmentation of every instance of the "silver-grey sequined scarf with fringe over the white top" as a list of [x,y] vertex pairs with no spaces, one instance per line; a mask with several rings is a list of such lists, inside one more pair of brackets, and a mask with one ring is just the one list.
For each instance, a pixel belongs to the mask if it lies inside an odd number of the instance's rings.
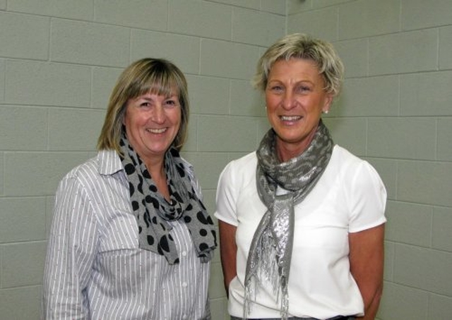
[[[267,211],[251,242],[245,273],[244,319],[251,312],[258,286],[270,283],[281,303],[282,319],[287,319],[290,261],[294,237],[294,206],[316,185],[333,152],[328,128],[320,121],[309,147],[299,156],[280,163],[275,151],[275,133],[269,130],[256,155],[258,195]],[[277,187],[287,190],[277,195]]]

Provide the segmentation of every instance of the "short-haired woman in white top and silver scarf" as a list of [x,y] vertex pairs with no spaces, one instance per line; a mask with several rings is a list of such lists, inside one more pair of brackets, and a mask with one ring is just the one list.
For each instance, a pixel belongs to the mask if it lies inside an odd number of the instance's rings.
[[217,189],[231,319],[374,319],[386,190],[321,120],[343,64],[328,42],[287,35],[258,62],[271,129]]

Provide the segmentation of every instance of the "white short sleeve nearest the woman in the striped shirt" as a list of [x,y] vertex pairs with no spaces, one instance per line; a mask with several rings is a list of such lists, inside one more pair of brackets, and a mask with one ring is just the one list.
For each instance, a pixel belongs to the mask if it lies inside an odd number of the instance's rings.
[[234,179],[234,161],[231,161],[220,174],[217,186],[215,217],[221,221],[237,226],[237,195],[239,185]]

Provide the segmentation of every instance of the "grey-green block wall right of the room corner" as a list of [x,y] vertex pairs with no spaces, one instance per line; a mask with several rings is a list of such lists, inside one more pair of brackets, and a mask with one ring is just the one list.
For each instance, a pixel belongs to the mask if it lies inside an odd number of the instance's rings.
[[452,319],[452,3],[288,0],[287,33],[335,44],[326,123],[388,189],[381,320]]

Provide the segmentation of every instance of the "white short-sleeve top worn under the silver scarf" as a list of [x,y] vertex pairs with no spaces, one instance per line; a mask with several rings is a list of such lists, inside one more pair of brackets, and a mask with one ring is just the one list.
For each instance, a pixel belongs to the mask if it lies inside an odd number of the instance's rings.
[[[266,206],[256,189],[256,152],[222,171],[215,216],[237,226],[237,276],[229,287],[229,312],[243,316],[246,259]],[[348,233],[386,222],[386,189],[367,162],[335,145],[319,182],[295,206],[295,235],[288,283],[290,316],[326,319],[362,315],[364,304],[350,273]],[[260,288],[249,319],[280,317],[280,302]]]

